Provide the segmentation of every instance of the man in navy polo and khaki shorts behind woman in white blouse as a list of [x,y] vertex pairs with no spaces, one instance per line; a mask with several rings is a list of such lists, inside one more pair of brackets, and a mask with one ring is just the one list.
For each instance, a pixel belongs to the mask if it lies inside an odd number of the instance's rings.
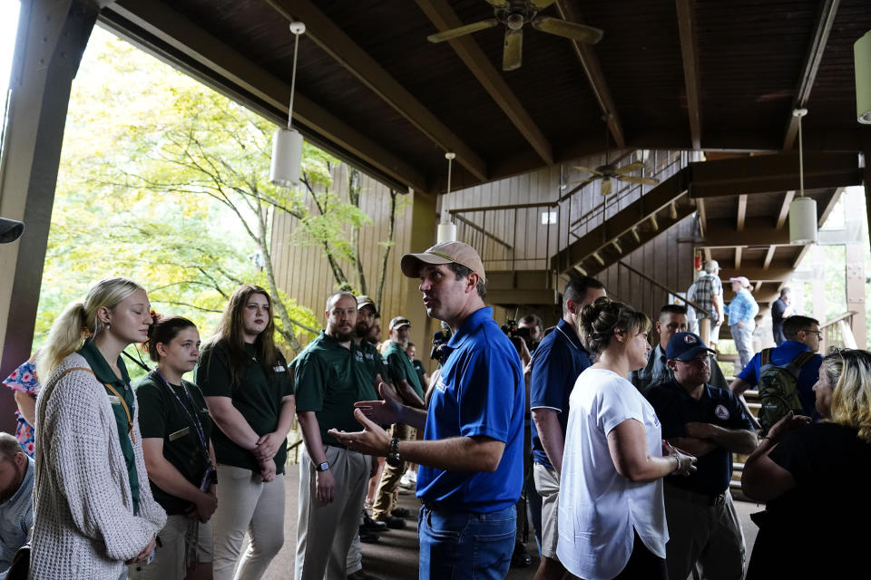
[[590,366],[590,353],[578,338],[581,309],[605,295],[599,280],[572,278],[563,289],[563,318],[544,337],[533,356],[529,407],[533,414],[533,480],[542,497],[542,559],[535,580],[562,578],[565,568],[556,556],[557,509],[563,447],[569,420],[569,395],[578,375]]

